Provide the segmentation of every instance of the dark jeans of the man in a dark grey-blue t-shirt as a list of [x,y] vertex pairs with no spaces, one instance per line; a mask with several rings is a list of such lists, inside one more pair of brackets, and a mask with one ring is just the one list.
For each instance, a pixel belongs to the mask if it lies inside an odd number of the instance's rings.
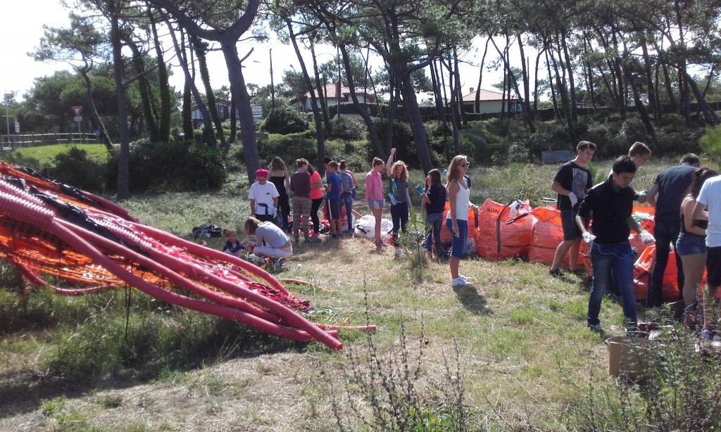
[[[656,239],[656,259],[651,271],[651,282],[648,284],[646,303],[648,307],[658,307],[663,304],[661,300],[661,284],[663,274],[668,264],[668,253],[671,252],[671,244],[676,245],[678,231],[681,230],[681,221],[665,222],[658,220],[653,225],[653,236]],[[684,266],[681,264],[681,256],[676,253],[676,282],[678,292],[684,289]]]

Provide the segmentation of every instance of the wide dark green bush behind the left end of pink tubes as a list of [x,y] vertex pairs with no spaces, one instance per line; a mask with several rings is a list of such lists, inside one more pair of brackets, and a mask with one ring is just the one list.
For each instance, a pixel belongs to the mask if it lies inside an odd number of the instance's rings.
[[[118,155],[109,162],[118,166]],[[108,184],[114,185],[117,168],[109,171]],[[130,190],[203,191],[220,189],[227,173],[220,153],[190,141],[131,143]],[[115,187],[112,187],[115,189]]]

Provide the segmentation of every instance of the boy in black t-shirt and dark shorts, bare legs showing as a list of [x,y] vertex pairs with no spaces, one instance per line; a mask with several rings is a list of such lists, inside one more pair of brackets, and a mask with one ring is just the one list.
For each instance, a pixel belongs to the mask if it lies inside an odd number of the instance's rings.
[[552,276],[559,274],[561,260],[570,251],[570,271],[575,271],[578,265],[578,249],[581,245],[581,232],[576,227],[576,212],[578,203],[585,197],[586,191],[593,186],[590,171],[585,164],[593,158],[596,144],[590,141],[581,141],[576,145],[576,157],[564,163],[553,178],[551,189],[558,194],[557,208],[561,210],[561,225],[563,226],[563,241],[556,248],[556,255],[551,264]]

